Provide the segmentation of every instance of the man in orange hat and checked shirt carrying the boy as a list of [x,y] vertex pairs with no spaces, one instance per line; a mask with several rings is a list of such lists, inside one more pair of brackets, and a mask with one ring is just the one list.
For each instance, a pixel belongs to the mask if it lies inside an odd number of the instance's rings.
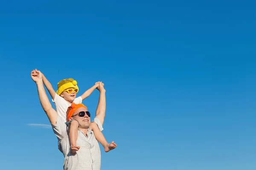
[[[31,78],[37,85],[41,106],[47,114],[52,125],[52,129],[58,138],[58,148],[64,155],[64,170],[100,170],[101,155],[99,144],[93,134],[93,131],[89,127],[90,117],[87,115],[87,108],[76,108],[72,114],[77,116],[79,112],[84,111],[84,113],[86,113],[83,117],[78,116],[79,131],[77,144],[80,146],[79,152],[70,154],[69,137],[67,125],[65,124],[66,121],[58,116],[58,113],[52,108],[44,89],[41,72],[37,70],[32,71]],[[105,89],[102,85],[100,85],[97,89],[100,92],[99,103],[96,109],[96,117],[94,118],[93,122],[98,125],[100,130],[103,130],[102,124],[104,122],[106,110]]]

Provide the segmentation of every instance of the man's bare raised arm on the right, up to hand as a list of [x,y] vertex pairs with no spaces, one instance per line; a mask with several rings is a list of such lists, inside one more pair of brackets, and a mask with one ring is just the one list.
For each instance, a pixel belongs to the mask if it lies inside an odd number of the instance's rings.
[[106,96],[105,96],[106,90],[104,89],[102,84],[100,84],[97,89],[99,90],[99,103],[96,109],[95,117],[98,118],[101,124],[103,125],[104,118],[105,118],[105,111],[106,111]]

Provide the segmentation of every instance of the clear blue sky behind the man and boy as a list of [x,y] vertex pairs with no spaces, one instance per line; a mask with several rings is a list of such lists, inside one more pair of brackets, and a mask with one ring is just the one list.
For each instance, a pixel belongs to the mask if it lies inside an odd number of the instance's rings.
[[[55,90],[70,77],[78,95],[105,83],[103,133],[118,147],[101,147],[102,170],[255,170],[255,6],[1,2],[1,169],[62,169],[30,78],[37,68]],[[83,102],[91,113],[98,97]]]

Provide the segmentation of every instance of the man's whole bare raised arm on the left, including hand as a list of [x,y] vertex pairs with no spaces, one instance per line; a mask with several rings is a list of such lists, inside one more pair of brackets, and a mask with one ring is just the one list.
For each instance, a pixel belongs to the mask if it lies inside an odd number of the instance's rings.
[[56,124],[56,120],[58,117],[57,112],[52,108],[52,105],[46,95],[44,84],[42,80],[42,73],[37,69],[31,72],[31,78],[35,82],[38,89],[38,96],[44,112],[47,114],[49,121],[52,125]]

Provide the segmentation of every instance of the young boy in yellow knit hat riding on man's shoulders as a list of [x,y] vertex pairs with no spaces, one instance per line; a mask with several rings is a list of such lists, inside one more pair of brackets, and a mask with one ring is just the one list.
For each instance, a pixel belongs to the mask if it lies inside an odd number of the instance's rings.
[[[76,94],[79,91],[79,88],[77,86],[77,82],[74,79],[63,79],[60,82],[58,82],[58,89],[55,93],[54,89],[52,88],[51,83],[46,79],[44,74],[42,74],[44,85],[46,86],[47,90],[49,91],[49,94],[52,97],[52,101],[55,104],[56,111],[59,116],[61,116],[62,119],[67,120],[67,109],[71,108],[71,104],[81,104],[82,101],[90,96],[90,94],[98,88],[99,84],[104,85],[102,82],[96,82],[93,87],[88,89],[84,92],[81,96],[76,98]],[[87,116],[90,116],[89,112],[86,112]],[[79,115],[80,116],[80,115]],[[79,150],[79,146],[76,146],[76,140],[77,140],[77,130],[79,127],[78,121],[70,121],[67,120],[67,124],[69,126],[69,138],[70,138],[70,153],[74,154],[76,151]],[[105,152],[108,152],[114,148],[116,148],[116,144],[114,142],[108,143],[103,136],[102,132],[99,130],[99,127],[96,123],[91,122],[90,128],[93,130],[94,136],[99,141],[102,146],[104,147]]]

